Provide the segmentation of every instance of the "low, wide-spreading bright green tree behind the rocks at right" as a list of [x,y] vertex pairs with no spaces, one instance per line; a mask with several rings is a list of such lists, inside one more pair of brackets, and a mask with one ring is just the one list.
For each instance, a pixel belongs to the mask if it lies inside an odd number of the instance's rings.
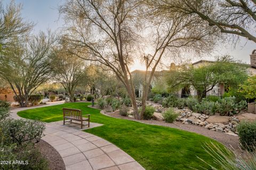
[[169,90],[178,90],[185,86],[193,86],[197,92],[199,101],[206,97],[218,83],[224,83],[230,87],[238,87],[247,79],[246,64],[237,63],[230,56],[217,58],[214,63],[201,67],[183,65],[171,69],[166,75]]

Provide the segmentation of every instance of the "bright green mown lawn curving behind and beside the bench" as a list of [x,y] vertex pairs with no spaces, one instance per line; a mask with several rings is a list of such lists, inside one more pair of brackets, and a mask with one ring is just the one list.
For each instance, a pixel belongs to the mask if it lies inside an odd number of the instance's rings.
[[204,142],[213,141],[208,137],[175,128],[111,118],[100,114],[97,109],[87,107],[89,104],[65,103],[19,111],[18,115],[43,122],[54,122],[62,120],[63,107],[81,109],[84,115],[91,114],[91,122],[104,124],[86,132],[114,143],[146,169],[202,169],[200,166],[209,168],[196,156],[212,163],[212,158],[202,149]]

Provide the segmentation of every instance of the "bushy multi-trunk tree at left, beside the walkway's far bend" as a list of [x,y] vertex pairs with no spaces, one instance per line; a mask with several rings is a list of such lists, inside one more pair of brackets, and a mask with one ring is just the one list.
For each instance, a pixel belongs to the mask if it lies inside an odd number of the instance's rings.
[[36,88],[52,75],[49,56],[54,35],[40,32],[11,47],[1,55],[0,76],[11,86],[21,107],[27,107],[28,98]]

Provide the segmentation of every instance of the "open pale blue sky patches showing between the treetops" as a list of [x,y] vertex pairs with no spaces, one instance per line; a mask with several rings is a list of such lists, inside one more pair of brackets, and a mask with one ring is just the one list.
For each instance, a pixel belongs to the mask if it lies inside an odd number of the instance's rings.
[[[1,1],[1,0],[0,0]],[[11,0],[3,0],[3,2],[9,3]],[[27,21],[33,21],[36,26],[33,33],[37,34],[39,30],[46,31],[51,29],[52,31],[60,30],[64,22],[59,16],[58,5],[61,5],[64,0],[15,0],[17,4],[23,5],[21,15]],[[241,41],[234,47],[234,44],[227,43],[221,45],[209,55],[203,56],[202,60],[214,60],[214,56],[229,54],[234,56],[236,60],[242,60],[245,63],[250,63],[250,54],[256,49],[256,44],[251,41],[246,41],[245,38],[241,38]],[[194,59],[192,62],[199,60]],[[135,61],[131,70],[143,69],[143,64],[140,61]]]

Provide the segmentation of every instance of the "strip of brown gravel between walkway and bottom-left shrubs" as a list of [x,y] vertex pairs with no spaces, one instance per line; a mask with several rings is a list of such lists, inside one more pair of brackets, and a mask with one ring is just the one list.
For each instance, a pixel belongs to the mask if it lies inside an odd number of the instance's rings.
[[49,169],[51,170],[65,170],[65,164],[59,152],[55,150],[49,143],[40,140],[35,144],[35,147],[40,150],[42,155],[48,160]]

